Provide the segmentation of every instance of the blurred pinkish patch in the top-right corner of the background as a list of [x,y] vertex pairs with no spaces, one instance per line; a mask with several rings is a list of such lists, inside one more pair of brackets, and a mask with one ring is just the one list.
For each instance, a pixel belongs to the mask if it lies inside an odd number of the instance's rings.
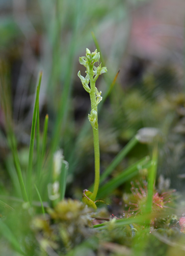
[[153,0],[133,10],[129,52],[147,59],[180,58],[184,48],[184,0]]

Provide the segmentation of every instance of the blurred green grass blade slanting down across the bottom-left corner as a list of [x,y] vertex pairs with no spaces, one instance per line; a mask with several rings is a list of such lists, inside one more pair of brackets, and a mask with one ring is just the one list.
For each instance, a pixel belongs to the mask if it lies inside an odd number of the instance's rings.
[[14,236],[10,228],[7,226],[7,224],[4,223],[1,219],[0,219],[0,233],[2,234],[2,237],[6,238],[9,241],[9,243],[14,247],[14,249],[17,252],[19,252],[21,255],[25,255],[20,249],[20,245],[16,237]]

